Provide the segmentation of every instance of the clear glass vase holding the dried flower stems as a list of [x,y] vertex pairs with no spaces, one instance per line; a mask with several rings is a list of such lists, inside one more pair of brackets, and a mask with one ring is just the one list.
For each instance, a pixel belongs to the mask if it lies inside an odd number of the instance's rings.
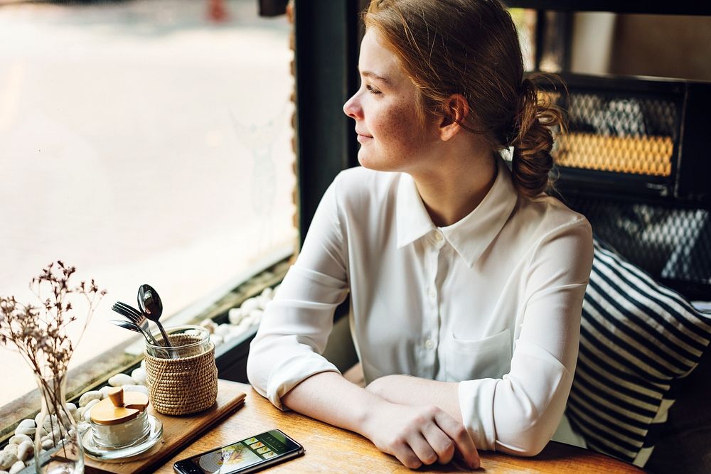
[[42,411],[35,419],[35,471],[38,474],[84,472],[84,448],[74,416],[67,409],[66,374],[36,377]]

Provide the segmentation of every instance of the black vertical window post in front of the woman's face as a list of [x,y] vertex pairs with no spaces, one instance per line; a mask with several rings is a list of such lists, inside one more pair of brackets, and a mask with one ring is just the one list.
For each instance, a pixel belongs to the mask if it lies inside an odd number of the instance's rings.
[[358,164],[353,121],[341,105],[358,89],[358,0],[295,6],[296,130],[301,243],[321,196]]

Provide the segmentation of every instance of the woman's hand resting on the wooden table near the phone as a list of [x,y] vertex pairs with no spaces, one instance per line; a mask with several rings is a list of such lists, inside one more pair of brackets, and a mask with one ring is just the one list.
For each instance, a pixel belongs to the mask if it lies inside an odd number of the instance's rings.
[[437,406],[409,406],[383,400],[370,411],[363,434],[384,453],[411,469],[449,463],[455,451],[479,468],[479,453],[464,425]]

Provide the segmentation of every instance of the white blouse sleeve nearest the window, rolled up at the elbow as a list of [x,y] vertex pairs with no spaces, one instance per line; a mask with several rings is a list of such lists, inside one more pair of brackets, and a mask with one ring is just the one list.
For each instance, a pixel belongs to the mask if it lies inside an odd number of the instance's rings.
[[338,372],[321,355],[333,328],[333,312],[348,292],[336,181],[321,199],[301,253],[267,305],[250,345],[247,377],[280,409],[284,394],[302,380]]

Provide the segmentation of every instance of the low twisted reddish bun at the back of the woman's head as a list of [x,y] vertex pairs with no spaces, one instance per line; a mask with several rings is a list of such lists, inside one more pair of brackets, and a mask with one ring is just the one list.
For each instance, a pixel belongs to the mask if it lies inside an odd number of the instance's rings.
[[526,78],[521,84],[519,112],[515,117],[512,160],[513,183],[528,198],[550,185],[553,126],[564,125],[560,109],[538,97],[538,87]]

